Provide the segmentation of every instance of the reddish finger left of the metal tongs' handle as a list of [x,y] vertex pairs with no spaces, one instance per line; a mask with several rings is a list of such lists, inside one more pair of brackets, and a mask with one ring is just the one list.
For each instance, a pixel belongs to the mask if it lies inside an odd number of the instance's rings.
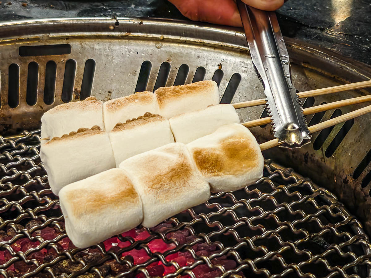
[[242,27],[233,0],[169,0],[187,18],[214,24]]

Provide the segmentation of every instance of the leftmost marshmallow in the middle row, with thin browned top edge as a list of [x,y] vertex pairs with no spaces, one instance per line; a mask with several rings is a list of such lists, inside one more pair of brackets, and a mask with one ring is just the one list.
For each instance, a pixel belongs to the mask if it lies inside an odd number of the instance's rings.
[[69,183],[115,167],[108,133],[99,126],[53,138],[41,146],[40,158],[56,195]]

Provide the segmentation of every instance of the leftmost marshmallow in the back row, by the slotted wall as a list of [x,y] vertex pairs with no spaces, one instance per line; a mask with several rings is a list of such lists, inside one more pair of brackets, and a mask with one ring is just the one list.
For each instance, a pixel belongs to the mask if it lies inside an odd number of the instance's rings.
[[58,105],[41,117],[41,138],[61,137],[79,128],[99,126],[104,130],[101,100],[85,100]]

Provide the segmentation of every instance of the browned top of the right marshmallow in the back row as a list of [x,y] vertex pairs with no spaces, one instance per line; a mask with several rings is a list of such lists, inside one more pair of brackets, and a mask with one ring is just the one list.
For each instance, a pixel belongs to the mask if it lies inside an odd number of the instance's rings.
[[205,80],[187,85],[160,87],[156,90],[155,95],[160,108],[170,100],[181,100],[186,95],[199,95],[208,92],[214,88],[213,81]]

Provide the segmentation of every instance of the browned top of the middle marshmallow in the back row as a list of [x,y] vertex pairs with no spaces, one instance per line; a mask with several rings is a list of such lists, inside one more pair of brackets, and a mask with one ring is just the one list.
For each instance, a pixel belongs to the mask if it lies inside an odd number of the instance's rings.
[[133,103],[149,104],[154,100],[154,93],[152,92],[138,92],[129,96],[119,97],[118,99],[111,99],[105,102],[107,110],[115,112],[122,107],[131,105]]

